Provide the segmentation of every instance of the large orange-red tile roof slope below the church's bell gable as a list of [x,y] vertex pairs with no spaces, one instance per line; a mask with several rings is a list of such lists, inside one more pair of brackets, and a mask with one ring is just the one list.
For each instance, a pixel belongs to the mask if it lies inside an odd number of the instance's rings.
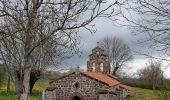
[[120,84],[119,81],[105,75],[105,74],[102,74],[100,72],[86,72],[84,73],[85,75],[89,76],[89,77],[92,77],[96,80],[99,80],[99,81],[102,81],[104,82],[105,84],[108,84],[109,86],[115,86],[115,85],[118,85]]

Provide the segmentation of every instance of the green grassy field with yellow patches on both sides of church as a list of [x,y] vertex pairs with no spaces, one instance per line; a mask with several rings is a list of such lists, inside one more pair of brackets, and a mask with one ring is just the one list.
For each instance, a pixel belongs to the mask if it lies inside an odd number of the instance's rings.
[[[33,88],[33,94],[31,95],[31,100],[41,100],[41,93],[48,86],[50,80],[39,80]],[[11,90],[14,86],[11,85]],[[11,91],[6,93],[5,85],[0,91],[0,100],[17,100],[16,94]],[[160,90],[150,90],[133,87],[131,93],[134,95],[136,100],[170,100],[170,91],[160,91]],[[128,98],[127,100],[132,100]]]

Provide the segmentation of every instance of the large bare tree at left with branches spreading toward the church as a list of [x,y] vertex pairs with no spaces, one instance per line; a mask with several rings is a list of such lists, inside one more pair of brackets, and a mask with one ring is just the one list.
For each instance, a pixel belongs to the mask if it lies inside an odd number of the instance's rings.
[[30,99],[30,77],[71,50],[80,28],[93,32],[97,17],[111,18],[118,2],[95,0],[1,0],[0,53],[17,78],[18,97]]

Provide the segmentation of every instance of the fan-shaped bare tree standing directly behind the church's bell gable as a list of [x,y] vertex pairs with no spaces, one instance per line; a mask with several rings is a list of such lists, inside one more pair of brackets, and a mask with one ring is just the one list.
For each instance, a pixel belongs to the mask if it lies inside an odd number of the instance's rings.
[[131,50],[120,38],[117,37],[104,37],[100,42],[108,55],[109,62],[112,67],[113,75],[120,70],[128,61],[133,59]]

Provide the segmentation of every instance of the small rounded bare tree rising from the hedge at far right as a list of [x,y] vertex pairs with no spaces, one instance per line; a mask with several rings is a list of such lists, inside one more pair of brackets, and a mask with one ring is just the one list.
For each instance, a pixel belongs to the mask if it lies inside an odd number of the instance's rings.
[[164,75],[160,62],[149,62],[149,65],[138,71],[138,75],[141,80],[151,84],[152,89],[156,89],[156,87],[163,85]]

